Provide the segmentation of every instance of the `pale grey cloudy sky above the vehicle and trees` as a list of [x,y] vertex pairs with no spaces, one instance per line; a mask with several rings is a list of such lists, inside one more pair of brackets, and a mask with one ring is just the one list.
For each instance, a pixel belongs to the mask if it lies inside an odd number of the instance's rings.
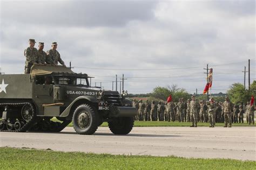
[[[118,75],[125,90],[149,93],[178,84],[202,93],[207,63],[212,93],[244,82],[251,59],[255,80],[255,1],[1,1],[0,67],[23,73],[28,39],[58,42],[75,72],[112,89]],[[37,44],[36,44],[37,46]],[[248,77],[248,75],[246,75]],[[246,86],[248,83],[246,81]],[[119,83],[118,83],[119,89]]]

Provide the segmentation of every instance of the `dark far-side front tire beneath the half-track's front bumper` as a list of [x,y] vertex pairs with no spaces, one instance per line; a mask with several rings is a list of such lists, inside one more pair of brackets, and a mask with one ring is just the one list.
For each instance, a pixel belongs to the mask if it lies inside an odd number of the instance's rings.
[[111,122],[109,122],[109,129],[114,134],[128,134],[131,132],[133,124],[133,117],[114,118]]

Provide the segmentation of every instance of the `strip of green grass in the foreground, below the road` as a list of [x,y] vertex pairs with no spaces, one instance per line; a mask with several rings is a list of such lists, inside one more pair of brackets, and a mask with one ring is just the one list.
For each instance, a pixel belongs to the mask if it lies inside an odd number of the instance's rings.
[[255,169],[256,161],[55,152],[0,147],[3,169]]

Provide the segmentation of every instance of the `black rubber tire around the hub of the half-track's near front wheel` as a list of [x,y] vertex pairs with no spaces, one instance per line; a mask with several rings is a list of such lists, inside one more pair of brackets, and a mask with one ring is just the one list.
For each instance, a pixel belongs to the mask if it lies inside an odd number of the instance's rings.
[[[77,122],[77,117],[81,111],[86,111],[91,116],[90,125],[86,129],[81,129]],[[79,105],[74,111],[72,121],[73,121],[73,128],[78,134],[93,134],[98,129],[99,115],[96,109],[91,107],[89,104],[82,104],[82,105]]]

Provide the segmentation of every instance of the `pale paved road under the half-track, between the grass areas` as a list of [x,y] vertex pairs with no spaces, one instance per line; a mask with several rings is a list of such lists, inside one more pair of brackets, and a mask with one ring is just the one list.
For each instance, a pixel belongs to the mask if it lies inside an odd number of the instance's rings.
[[2,147],[256,160],[255,127],[145,127],[134,128],[127,136],[113,135],[108,128],[83,136],[76,134],[73,128],[65,128],[60,133],[0,132],[0,137]]

